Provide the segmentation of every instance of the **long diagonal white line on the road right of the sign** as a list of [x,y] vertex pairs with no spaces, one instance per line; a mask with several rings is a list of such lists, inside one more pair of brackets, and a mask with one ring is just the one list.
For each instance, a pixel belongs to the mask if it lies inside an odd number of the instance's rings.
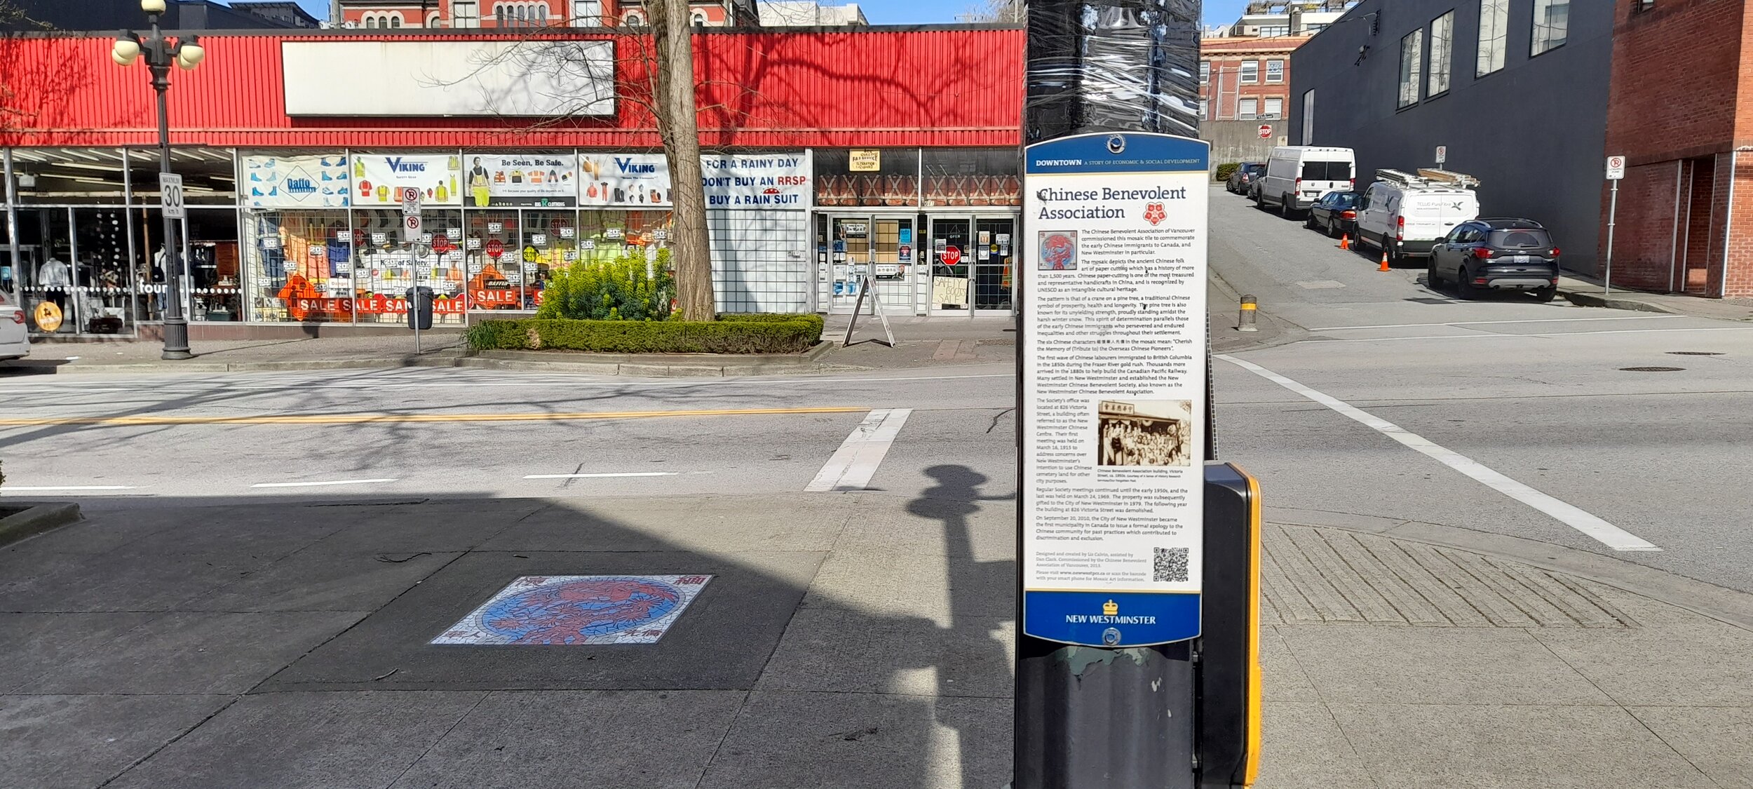
[[1229,361],[1231,365],[1236,365],[1236,366],[1239,366],[1243,370],[1253,372],[1255,375],[1259,375],[1262,379],[1267,379],[1267,380],[1271,380],[1271,382],[1274,382],[1278,386],[1283,386],[1285,389],[1290,389],[1290,391],[1294,391],[1297,394],[1302,394],[1304,398],[1309,398],[1309,400],[1313,400],[1313,402],[1317,402],[1320,405],[1325,405],[1325,407],[1329,407],[1329,409],[1332,409],[1332,410],[1336,410],[1339,414],[1345,414],[1345,416],[1348,416],[1348,417],[1362,423],[1364,426],[1369,426],[1374,431],[1378,431],[1378,433],[1381,433],[1381,435],[1385,435],[1388,438],[1394,438],[1394,440],[1404,444],[1409,449],[1423,452],[1425,456],[1436,459],[1437,463],[1443,463],[1444,466],[1450,466],[1450,468],[1453,468],[1453,470],[1457,470],[1460,473],[1466,473],[1467,477],[1473,477],[1480,484],[1483,484],[1483,486],[1487,486],[1487,487],[1490,487],[1490,489],[1494,489],[1497,493],[1502,493],[1504,496],[1509,496],[1509,498],[1513,498],[1516,501],[1522,501],[1522,503],[1525,503],[1529,507],[1534,507],[1536,510],[1541,510],[1541,512],[1544,512],[1544,514],[1558,519],[1565,526],[1571,526],[1572,530],[1578,530],[1578,531],[1581,531],[1581,533],[1585,533],[1588,537],[1593,537],[1595,540],[1600,540],[1602,545],[1608,545],[1613,551],[1662,551],[1655,544],[1651,544],[1651,542],[1648,542],[1648,540],[1644,540],[1644,538],[1641,538],[1641,537],[1637,537],[1637,535],[1634,535],[1630,531],[1625,531],[1625,530],[1622,530],[1622,528],[1618,528],[1618,526],[1615,526],[1611,522],[1606,522],[1606,521],[1602,521],[1602,519],[1599,519],[1595,515],[1590,515],[1588,512],[1583,512],[1578,507],[1572,507],[1569,503],[1558,501],[1557,498],[1551,498],[1551,496],[1548,496],[1548,494],[1544,494],[1541,491],[1536,491],[1536,489],[1532,489],[1532,487],[1529,487],[1529,486],[1525,486],[1522,482],[1516,482],[1516,480],[1513,480],[1509,477],[1504,477],[1502,473],[1497,473],[1497,472],[1483,466],[1481,463],[1478,463],[1478,461],[1474,461],[1471,458],[1466,458],[1466,456],[1462,456],[1462,454],[1458,454],[1458,452],[1455,452],[1451,449],[1439,447],[1439,445],[1432,444],[1429,438],[1425,438],[1425,437],[1422,437],[1418,433],[1413,433],[1413,431],[1409,431],[1406,428],[1401,428],[1399,424],[1394,424],[1394,423],[1390,423],[1387,419],[1373,416],[1373,414],[1369,414],[1369,412],[1366,412],[1362,409],[1357,409],[1353,405],[1348,405],[1348,403],[1345,403],[1345,402],[1341,402],[1338,398],[1332,398],[1332,396],[1322,394],[1322,393],[1318,393],[1315,389],[1309,389],[1309,387],[1306,387],[1306,386],[1302,386],[1302,384],[1299,384],[1295,380],[1290,380],[1290,379],[1287,379],[1283,375],[1278,375],[1278,373],[1274,373],[1274,372],[1271,372],[1271,370],[1267,370],[1267,368],[1264,368],[1260,365],[1255,365],[1252,361],[1243,361],[1243,359],[1238,359],[1238,358],[1229,356],[1229,354],[1218,354],[1218,359]]

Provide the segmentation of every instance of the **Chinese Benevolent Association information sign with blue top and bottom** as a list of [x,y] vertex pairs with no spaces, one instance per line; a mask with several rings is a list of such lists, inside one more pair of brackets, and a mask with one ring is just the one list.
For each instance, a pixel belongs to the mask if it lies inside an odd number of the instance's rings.
[[1024,633],[1199,635],[1210,146],[1092,133],[1024,158]]

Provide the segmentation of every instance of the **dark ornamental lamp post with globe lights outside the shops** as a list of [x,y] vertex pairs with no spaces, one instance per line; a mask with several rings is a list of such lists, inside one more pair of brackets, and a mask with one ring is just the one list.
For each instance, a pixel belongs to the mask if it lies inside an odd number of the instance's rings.
[[[153,89],[158,93],[158,172],[160,189],[165,189],[165,175],[170,175],[170,114],[165,109],[165,93],[170,91],[170,65],[182,70],[195,70],[207,58],[207,49],[200,46],[193,33],[172,42],[158,30],[158,16],[165,12],[165,0],[140,0],[140,11],[147,14],[153,32],[140,35],[123,30],[110,49],[110,60],[119,67],[131,67],[140,54],[145,54],[145,67],[153,72]],[[181,209],[181,193],[177,195]],[[165,359],[191,359],[189,321],[182,314],[182,254],[177,251],[177,228],[170,212],[165,212]]]

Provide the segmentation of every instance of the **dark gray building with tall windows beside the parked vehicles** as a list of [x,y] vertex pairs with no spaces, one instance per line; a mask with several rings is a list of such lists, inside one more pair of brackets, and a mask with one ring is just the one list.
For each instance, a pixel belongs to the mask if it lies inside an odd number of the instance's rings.
[[1290,56],[1290,142],[1480,179],[1485,216],[1546,223],[1592,272],[1613,60],[1608,0],[1364,0]]

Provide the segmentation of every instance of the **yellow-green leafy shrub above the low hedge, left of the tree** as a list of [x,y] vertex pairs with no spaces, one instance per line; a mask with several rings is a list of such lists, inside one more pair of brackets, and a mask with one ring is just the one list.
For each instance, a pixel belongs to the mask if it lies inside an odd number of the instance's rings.
[[652,275],[645,275],[645,254],[629,252],[601,261],[556,268],[536,317],[578,321],[663,321],[670,317],[675,277],[670,275],[670,251],[657,251]]

